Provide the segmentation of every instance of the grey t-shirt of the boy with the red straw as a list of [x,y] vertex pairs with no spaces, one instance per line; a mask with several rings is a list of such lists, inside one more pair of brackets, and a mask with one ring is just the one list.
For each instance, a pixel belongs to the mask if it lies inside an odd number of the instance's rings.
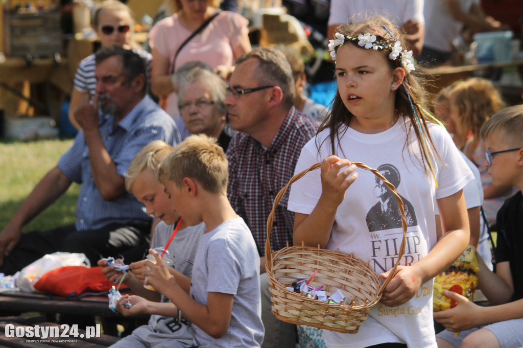
[[[165,246],[173,230],[174,224],[168,225],[163,221],[158,223],[151,242],[152,248]],[[192,265],[195,260],[200,238],[204,231],[205,224],[203,222],[196,226],[189,226],[183,230],[179,230],[167,249],[174,257],[174,268],[188,277],[192,276]],[[162,295],[162,302],[170,301]],[[155,334],[161,335],[163,338],[176,338],[178,341],[187,340],[187,343],[190,344],[192,343],[192,334],[189,326],[190,323],[187,320],[178,322],[178,318],[152,315],[149,319],[149,328],[152,329]]]

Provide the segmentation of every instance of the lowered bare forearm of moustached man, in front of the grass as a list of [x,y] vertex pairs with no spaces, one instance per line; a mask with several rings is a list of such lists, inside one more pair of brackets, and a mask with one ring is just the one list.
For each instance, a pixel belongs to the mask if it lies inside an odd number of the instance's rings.
[[22,227],[63,195],[71,183],[60,168],[55,166],[33,188],[7,226],[0,232],[0,266],[4,263],[4,256],[9,255],[20,241]]

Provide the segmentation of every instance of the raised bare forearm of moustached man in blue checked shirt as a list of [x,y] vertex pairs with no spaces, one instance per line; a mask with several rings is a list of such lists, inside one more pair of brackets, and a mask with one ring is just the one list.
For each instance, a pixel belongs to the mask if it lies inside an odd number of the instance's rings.
[[89,149],[89,162],[96,188],[105,200],[114,200],[126,193],[123,176],[118,174],[116,163],[105,147],[98,129],[98,109],[90,105],[89,97],[84,96],[74,110],[74,117],[84,130],[84,138]]

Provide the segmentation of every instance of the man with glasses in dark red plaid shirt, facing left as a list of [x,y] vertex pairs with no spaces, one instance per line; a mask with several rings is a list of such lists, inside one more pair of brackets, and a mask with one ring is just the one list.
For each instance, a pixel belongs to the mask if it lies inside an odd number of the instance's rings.
[[[260,254],[261,319],[265,325],[262,347],[292,347],[294,325],[270,313],[266,224],[276,194],[292,177],[301,149],[314,136],[317,125],[293,107],[291,67],[276,49],[257,48],[238,58],[228,92],[225,104],[231,128],[239,131],[227,150],[228,196],[236,214],[251,229]],[[272,250],[292,245],[294,214],[287,210],[288,198],[286,193],[275,212]]]

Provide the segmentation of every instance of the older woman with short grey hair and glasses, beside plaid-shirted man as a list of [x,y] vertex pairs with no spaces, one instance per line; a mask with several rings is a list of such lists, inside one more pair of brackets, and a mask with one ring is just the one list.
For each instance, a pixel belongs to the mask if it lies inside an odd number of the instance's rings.
[[217,74],[195,68],[181,83],[178,94],[178,109],[187,130],[192,134],[204,133],[217,138],[223,151],[229,147],[232,136],[226,121],[226,87]]

